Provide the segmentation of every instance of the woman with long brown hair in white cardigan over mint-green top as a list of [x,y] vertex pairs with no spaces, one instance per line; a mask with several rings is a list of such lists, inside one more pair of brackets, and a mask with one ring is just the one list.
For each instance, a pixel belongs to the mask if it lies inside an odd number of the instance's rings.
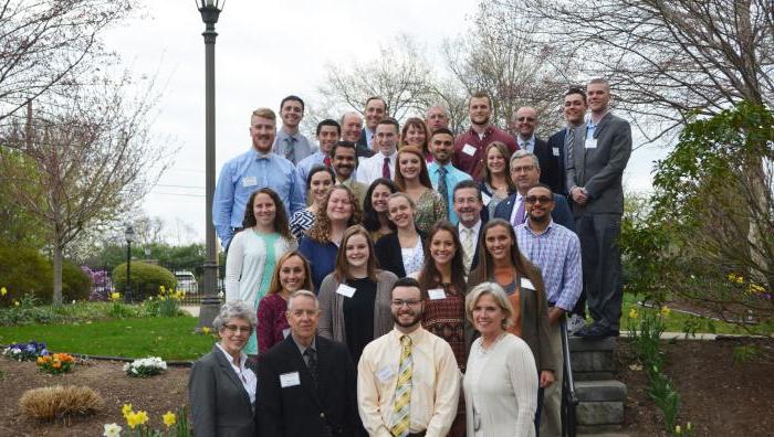
[[[276,259],[295,248],[295,238],[287,226],[282,200],[268,188],[255,191],[248,200],[242,226],[231,239],[226,257],[226,301],[244,300],[258,313],[258,305],[269,290]],[[254,330],[244,353],[258,354]]]

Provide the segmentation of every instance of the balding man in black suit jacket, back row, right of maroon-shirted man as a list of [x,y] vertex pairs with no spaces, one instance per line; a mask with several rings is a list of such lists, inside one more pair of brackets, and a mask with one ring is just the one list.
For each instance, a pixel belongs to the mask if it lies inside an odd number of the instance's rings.
[[541,167],[540,181],[551,186],[551,191],[558,193],[559,173],[559,150],[550,148],[548,143],[535,136],[537,126],[537,111],[530,106],[523,106],[516,110],[511,120],[516,132],[519,149],[529,150],[537,157]]

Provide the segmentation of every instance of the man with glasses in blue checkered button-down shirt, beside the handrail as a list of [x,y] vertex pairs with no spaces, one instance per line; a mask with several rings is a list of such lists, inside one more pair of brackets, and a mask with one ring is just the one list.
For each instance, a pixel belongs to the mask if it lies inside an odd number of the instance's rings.
[[[563,199],[563,198],[559,198]],[[562,435],[562,319],[575,307],[583,288],[580,268],[580,241],[574,232],[554,223],[554,196],[548,185],[538,183],[526,192],[527,220],[515,227],[519,251],[532,264],[540,267],[548,300],[548,335],[551,353],[558,363],[554,371],[556,382],[541,388],[538,395],[541,435]]]

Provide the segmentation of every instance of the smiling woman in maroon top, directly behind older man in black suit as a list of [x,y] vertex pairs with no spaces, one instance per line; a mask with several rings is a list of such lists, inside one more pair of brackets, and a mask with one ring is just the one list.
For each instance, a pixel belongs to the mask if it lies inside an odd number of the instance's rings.
[[299,251],[286,252],[276,262],[266,296],[258,306],[258,353],[281,342],[290,332],[285,311],[287,298],[297,290],[312,289],[310,264]]

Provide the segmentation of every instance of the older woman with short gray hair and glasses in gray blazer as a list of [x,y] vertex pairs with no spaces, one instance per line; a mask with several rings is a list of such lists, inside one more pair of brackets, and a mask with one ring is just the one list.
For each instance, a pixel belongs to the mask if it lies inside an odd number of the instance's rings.
[[252,437],[257,379],[242,349],[257,324],[255,311],[236,300],[220,308],[212,328],[220,342],[194,363],[188,380],[194,435]]

